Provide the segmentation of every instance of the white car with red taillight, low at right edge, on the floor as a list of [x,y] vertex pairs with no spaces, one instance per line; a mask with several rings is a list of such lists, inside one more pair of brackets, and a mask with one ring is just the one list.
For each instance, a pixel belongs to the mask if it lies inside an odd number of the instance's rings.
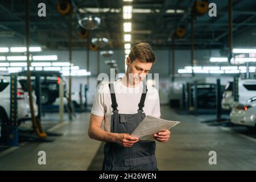
[[256,128],[256,96],[246,101],[246,104],[236,104],[230,113],[231,122]]

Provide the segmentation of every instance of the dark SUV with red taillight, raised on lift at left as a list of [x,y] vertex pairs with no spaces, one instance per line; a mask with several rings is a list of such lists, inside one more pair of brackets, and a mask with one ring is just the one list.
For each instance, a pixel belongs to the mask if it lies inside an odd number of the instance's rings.
[[[20,76],[26,76],[26,71],[19,72]],[[42,105],[50,105],[59,98],[60,78],[63,80],[65,93],[65,77],[56,71],[31,71],[31,85],[35,89],[35,76],[39,75],[41,80],[41,103]],[[26,78],[23,80],[26,82]]]

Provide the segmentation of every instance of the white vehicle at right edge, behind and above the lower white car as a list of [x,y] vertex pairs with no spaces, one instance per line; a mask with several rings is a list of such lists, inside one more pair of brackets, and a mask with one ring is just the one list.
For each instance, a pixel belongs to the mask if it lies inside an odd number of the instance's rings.
[[[251,97],[256,96],[256,80],[246,79],[238,80],[238,94],[240,104],[246,104]],[[226,87],[221,101],[222,109],[230,110],[237,103],[233,99],[233,82],[229,82]]]

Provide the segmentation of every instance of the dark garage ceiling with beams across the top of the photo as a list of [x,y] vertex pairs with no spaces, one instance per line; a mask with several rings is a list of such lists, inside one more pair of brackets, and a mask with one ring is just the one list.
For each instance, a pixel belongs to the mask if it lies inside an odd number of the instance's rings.
[[[46,3],[46,17],[38,16],[38,4]],[[30,1],[31,42],[52,49],[68,49],[68,18],[56,10],[58,1]],[[228,0],[209,1],[217,5],[217,17],[208,14],[198,16],[195,20],[195,46],[200,48],[225,48],[228,44]],[[90,32],[90,37],[105,36],[110,40],[108,48],[123,49],[123,18],[121,0],[72,0],[75,5],[73,14],[73,47],[85,48],[86,40],[79,38],[78,19],[85,15],[97,15],[101,25]],[[186,35],[177,39],[179,48],[189,48],[190,13],[193,1],[179,0],[133,0],[134,11],[131,22],[131,44],[149,42],[155,48],[168,48],[171,34],[179,25],[185,26]],[[0,2],[0,39],[20,39],[24,42],[25,14],[24,0]],[[256,25],[256,1],[233,1],[234,37]],[[144,13],[139,13],[144,10]],[[150,10],[150,13],[147,11]],[[168,13],[167,10],[175,10]]]

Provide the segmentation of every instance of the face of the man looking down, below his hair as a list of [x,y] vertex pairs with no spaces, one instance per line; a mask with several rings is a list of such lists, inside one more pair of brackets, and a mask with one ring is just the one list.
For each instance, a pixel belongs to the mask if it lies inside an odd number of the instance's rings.
[[127,65],[127,73],[129,74],[129,81],[133,81],[133,83],[137,83],[142,81],[150,71],[153,63],[147,63],[146,61],[140,61],[135,59],[133,63],[131,63],[129,57],[126,59]]

